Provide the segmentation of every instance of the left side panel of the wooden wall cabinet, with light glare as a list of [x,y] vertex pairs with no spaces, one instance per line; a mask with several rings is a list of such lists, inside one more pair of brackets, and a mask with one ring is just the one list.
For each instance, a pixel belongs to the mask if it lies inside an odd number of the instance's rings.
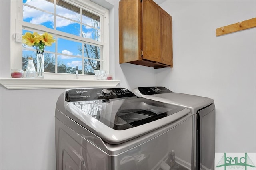
[[119,63],[136,62],[142,50],[142,3],[119,1]]

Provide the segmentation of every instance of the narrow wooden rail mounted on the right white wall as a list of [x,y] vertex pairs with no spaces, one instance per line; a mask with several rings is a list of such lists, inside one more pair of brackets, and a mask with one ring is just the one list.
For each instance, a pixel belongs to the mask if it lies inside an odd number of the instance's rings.
[[240,31],[240,30],[245,30],[245,29],[252,28],[252,27],[256,27],[256,18],[244,20],[244,21],[241,21],[241,22],[238,22],[235,24],[217,28],[216,36],[221,36],[224,34],[236,32],[236,31]]

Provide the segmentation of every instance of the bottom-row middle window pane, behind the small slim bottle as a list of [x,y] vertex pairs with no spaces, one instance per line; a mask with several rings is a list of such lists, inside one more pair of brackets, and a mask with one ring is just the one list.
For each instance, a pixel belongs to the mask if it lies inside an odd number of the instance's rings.
[[58,73],[76,73],[76,66],[78,66],[78,72],[82,73],[82,58],[67,57],[58,55]]

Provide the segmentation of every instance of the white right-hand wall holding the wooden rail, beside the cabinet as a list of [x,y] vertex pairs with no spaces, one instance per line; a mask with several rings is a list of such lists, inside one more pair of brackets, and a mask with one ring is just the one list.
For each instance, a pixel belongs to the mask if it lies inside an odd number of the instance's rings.
[[256,17],[256,1],[165,1],[174,67],[157,85],[214,99],[216,152],[256,152],[256,28],[216,37],[216,28]]

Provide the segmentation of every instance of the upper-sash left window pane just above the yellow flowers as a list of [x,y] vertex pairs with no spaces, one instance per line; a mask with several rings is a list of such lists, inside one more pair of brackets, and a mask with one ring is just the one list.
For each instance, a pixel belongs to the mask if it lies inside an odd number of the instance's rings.
[[40,24],[51,29],[54,28],[54,16],[52,14],[28,6],[23,6],[23,21],[31,24]]

